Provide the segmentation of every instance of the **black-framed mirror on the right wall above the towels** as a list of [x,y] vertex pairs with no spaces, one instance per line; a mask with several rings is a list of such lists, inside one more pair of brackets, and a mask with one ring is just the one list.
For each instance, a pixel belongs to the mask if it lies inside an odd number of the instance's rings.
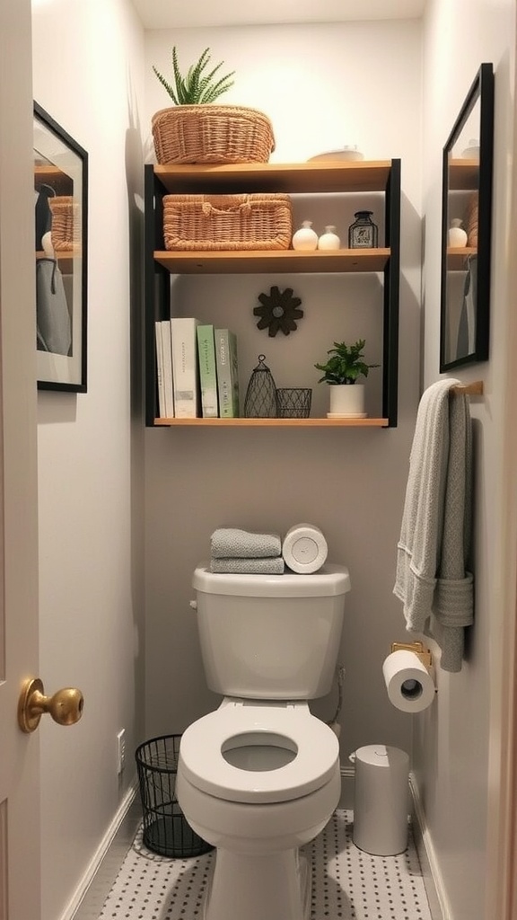
[[488,359],[493,122],[482,63],[443,147],[441,372]]

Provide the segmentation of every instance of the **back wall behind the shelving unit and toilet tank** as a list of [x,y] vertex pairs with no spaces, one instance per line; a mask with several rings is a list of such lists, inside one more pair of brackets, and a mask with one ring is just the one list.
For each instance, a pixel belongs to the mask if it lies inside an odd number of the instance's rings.
[[[152,72],[168,70],[178,45],[188,64],[210,45],[213,63],[236,70],[223,101],[254,106],[272,121],[271,160],[304,161],[356,143],[370,159],[402,159],[400,424],[392,431],[146,431],[146,727],[180,732],[217,705],[205,689],[194,617],[191,572],[210,552],[219,525],[285,533],[299,521],[318,524],[329,557],[350,568],[340,660],[346,666],[341,717],[343,763],[356,747],[387,742],[408,748],[410,718],[390,707],[382,661],[404,638],[392,594],[396,540],[419,386],[421,47],[417,21],[339,25],[182,29],[148,32],[145,106],[167,106]],[[321,232],[336,223],[336,204],[296,202],[297,218],[315,216]],[[378,207],[378,203],[377,203]],[[314,208],[314,215],[313,215]],[[350,220],[341,218],[346,239]],[[338,222],[339,223],[339,222]],[[271,284],[292,286],[305,311],[289,338],[255,327],[257,296]],[[235,328],[242,395],[264,352],[277,385],[312,385],[316,414],[327,390],[313,364],[333,339],[364,334],[380,354],[381,288],[372,277],[303,275],[191,277],[177,282],[179,309]],[[371,372],[375,400],[380,383]],[[371,403],[372,410],[372,403]],[[317,702],[329,719],[336,696]]]

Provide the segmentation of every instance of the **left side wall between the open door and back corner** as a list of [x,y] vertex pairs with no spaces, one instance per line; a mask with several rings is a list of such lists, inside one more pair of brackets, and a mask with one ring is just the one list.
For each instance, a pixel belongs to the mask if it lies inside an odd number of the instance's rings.
[[86,872],[142,734],[142,50],[126,0],[34,2],[34,97],[89,155],[88,392],[38,399],[41,677],[85,695],[74,728],[40,726],[44,920]]

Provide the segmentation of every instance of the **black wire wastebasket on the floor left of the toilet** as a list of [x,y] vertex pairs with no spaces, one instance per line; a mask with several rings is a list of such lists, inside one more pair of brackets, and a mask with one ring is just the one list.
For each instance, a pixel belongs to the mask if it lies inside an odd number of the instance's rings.
[[144,845],[164,857],[199,857],[213,849],[195,834],[176,798],[181,735],[161,735],[135,751],[144,817]]

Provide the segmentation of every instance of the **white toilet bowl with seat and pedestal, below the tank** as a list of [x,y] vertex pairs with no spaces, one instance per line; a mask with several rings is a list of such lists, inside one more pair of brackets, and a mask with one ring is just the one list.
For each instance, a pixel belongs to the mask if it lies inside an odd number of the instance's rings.
[[334,732],[305,703],[225,699],[183,734],[176,790],[192,829],[217,847],[206,920],[306,920],[298,848],[339,801]]

